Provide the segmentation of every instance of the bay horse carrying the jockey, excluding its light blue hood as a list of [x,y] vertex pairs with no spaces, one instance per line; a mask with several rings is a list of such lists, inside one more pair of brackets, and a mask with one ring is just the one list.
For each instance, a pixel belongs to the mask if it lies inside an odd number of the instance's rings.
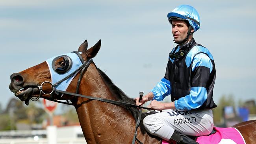
[[[88,43],[85,40],[78,48],[83,61],[88,61],[96,56],[100,50],[101,41],[98,41],[88,50],[87,46]],[[69,71],[70,65],[75,65],[74,61],[70,64],[68,60],[69,56],[60,55],[55,58],[55,61],[52,61],[52,64],[45,61],[19,73],[12,74],[9,89],[27,105],[31,98],[32,100],[38,100],[39,97],[52,100],[68,100],[76,109],[83,135],[88,144],[132,143],[139,113],[137,108],[68,94],[61,96],[55,92],[50,94],[52,92],[52,84],[50,82],[53,79],[50,66],[60,75],[65,74],[65,72]],[[135,100],[129,98],[114,85],[111,79],[96,67],[95,63],[89,63],[83,73],[82,75],[79,75],[78,72],[73,73],[74,77],[71,80],[69,79],[70,83],[64,91],[135,104]],[[81,76],[82,78],[80,78]],[[76,89],[78,81],[80,81],[80,87]],[[46,82],[45,85],[43,85],[44,82]],[[47,82],[50,84],[47,84]],[[142,119],[146,115],[143,114]],[[247,144],[255,143],[256,120],[242,122],[235,125],[235,127],[241,132]],[[143,144],[160,144],[160,139],[147,133],[142,124],[138,128],[137,138]]]

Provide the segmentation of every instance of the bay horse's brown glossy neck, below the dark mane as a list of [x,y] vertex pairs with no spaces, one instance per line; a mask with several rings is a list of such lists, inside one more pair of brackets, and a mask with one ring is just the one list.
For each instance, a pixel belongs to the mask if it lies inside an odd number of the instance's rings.
[[[86,74],[80,94],[115,100],[98,72]],[[87,143],[121,144],[132,139],[135,121],[123,107],[80,97],[76,111]]]

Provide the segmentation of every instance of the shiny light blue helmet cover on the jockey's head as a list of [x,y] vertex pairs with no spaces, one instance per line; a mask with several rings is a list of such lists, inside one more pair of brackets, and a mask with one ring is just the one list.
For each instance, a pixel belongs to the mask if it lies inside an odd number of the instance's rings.
[[[200,28],[200,17],[197,12],[197,10],[189,5],[180,5],[173,9],[171,13],[168,13],[167,15],[168,19],[170,17],[178,17],[185,20],[188,20],[189,24],[192,26],[192,28],[197,31]],[[193,20],[191,20],[193,19]],[[197,24],[195,21],[197,21],[199,24]]]

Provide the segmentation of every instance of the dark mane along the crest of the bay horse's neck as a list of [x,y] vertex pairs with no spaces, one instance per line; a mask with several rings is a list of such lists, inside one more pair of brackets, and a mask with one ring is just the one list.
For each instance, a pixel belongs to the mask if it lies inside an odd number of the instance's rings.
[[[99,68],[97,68],[101,78],[103,79],[104,83],[109,87],[110,92],[116,97],[118,98],[118,100],[120,102],[125,102],[125,103],[132,103],[135,104],[135,100],[132,98],[129,98],[121,89],[119,89],[114,83],[113,81],[111,81],[111,79],[104,73],[102,72],[102,70],[100,70]],[[121,105],[122,106],[122,105]],[[125,109],[127,109],[130,113],[132,113],[132,115],[134,116],[135,121],[137,122],[138,119],[138,115],[139,115],[139,110],[135,107],[126,107],[126,106],[122,106]],[[145,134],[146,130],[145,127],[143,126],[142,122],[143,119],[149,115],[149,114],[153,114],[153,113],[143,113],[141,115],[141,123],[140,123],[140,128],[141,128],[141,133]]]

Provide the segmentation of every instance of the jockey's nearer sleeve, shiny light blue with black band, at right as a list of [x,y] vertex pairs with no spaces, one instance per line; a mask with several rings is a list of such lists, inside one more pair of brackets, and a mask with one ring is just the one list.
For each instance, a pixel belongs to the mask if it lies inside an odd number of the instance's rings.
[[207,55],[200,53],[193,58],[190,94],[174,101],[176,109],[197,109],[206,101],[206,85],[212,69],[213,65]]

